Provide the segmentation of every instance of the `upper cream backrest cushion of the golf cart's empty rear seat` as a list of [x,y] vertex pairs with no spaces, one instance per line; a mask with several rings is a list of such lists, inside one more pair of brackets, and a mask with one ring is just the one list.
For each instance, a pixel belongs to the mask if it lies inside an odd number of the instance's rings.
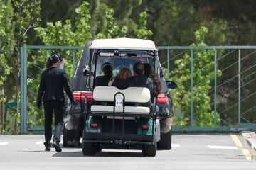
[[[125,96],[125,102],[147,103],[150,101],[150,91],[146,87],[128,87],[120,90],[115,86],[96,86],[93,90],[95,101],[114,101],[114,94],[121,92]],[[121,94],[117,94],[116,99],[122,99]]]

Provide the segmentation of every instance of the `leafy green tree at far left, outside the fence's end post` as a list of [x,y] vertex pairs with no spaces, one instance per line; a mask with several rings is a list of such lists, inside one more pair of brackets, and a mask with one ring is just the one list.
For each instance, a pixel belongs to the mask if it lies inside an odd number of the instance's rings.
[[[40,18],[38,18],[40,13],[40,1],[5,1],[8,5],[13,8],[14,13],[13,15],[9,15],[9,20],[12,21],[12,26],[10,28],[14,29],[14,34],[10,34],[11,38],[8,40],[9,44],[11,45],[15,42],[14,46],[12,47],[13,54],[9,57],[6,57],[6,65],[11,67],[11,72],[8,75],[6,81],[4,81],[4,89],[6,94],[6,103],[9,101],[18,101],[20,98],[20,48],[23,45],[26,45],[26,40],[28,39],[28,32],[36,26]],[[9,8],[11,8],[9,7]],[[9,11],[9,9],[8,9]],[[6,12],[6,15],[8,12]],[[11,108],[10,115],[14,118],[14,124],[11,124],[12,130],[9,129],[10,133],[17,133],[18,132],[18,124],[20,120],[20,111],[18,107]],[[6,115],[6,111],[5,111]],[[6,121],[8,123],[8,121]]]

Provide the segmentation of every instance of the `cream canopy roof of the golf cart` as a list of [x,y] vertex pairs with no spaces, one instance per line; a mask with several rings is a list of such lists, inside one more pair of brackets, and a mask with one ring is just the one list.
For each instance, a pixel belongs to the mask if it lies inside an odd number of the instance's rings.
[[123,37],[93,40],[90,49],[156,50],[156,45],[151,40]]

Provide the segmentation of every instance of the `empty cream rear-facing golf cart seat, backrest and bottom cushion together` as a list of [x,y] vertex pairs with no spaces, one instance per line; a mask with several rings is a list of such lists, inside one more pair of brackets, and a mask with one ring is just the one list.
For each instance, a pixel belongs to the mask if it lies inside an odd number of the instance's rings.
[[[150,101],[150,91],[145,87],[129,87],[124,90],[114,86],[96,86],[93,91],[93,100],[101,102],[114,102],[114,95],[121,92],[125,96],[125,103],[148,103]],[[117,100],[122,100],[123,96],[117,94]],[[113,113],[114,106],[94,105],[91,112]],[[123,107],[116,107],[115,113],[122,113]],[[150,113],[150,106],[125,106],[124,113]]]

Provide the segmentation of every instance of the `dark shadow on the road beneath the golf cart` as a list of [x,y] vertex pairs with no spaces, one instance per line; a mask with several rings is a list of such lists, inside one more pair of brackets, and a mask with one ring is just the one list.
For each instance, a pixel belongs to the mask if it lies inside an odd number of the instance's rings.
[[53,157],[144,157],[141,152],[97,152],[94,156],[85,156],[82,152],[57,152]]

